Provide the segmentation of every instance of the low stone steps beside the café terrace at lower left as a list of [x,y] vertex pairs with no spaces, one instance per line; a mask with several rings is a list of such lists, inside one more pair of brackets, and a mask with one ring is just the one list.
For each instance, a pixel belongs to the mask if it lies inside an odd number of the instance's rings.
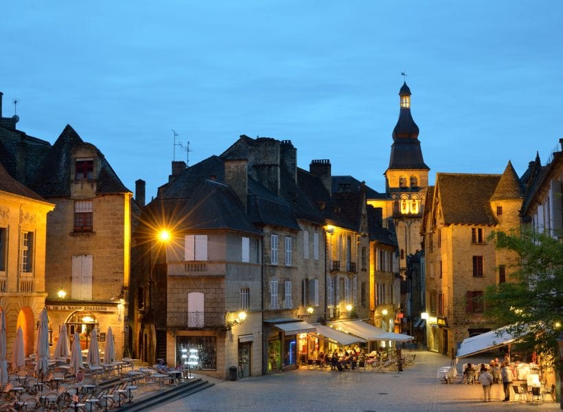
[[189,380],[189,382],[180,382],[178,386],[170,389],[151,391],[146,396],[137,398],[137,400],[133,398],[133,403],[122,405],[119,412],[146,411],[151,407],[155,407],[166,402],[172,402],[172,400],[184,398],[185,396],[192,395],[192,393],[203,391],[203,389],[207,389],[213,385],[213,383],[203,380],[202,378],[194,378]]

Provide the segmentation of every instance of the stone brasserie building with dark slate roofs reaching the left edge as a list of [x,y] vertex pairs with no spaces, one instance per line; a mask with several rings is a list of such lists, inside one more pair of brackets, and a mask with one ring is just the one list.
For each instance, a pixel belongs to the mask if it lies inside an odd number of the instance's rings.
[[[0,104],[1,106],[1,104]],[[124,355],[130,265],[132,193],[92,144],[67,125],[53,146],[0,123],[0,161],[14,179],[54,203],[47,217],[45,305],[52,325],[67,323],[89,346],[92,328],[113,329],[116,355]]]

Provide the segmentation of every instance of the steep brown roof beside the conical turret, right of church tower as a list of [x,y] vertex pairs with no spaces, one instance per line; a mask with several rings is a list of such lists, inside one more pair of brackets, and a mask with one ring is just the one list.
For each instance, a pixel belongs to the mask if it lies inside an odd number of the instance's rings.
[[490,198],[500,174],[436,174],[436,196],[445,225],[496,225]]

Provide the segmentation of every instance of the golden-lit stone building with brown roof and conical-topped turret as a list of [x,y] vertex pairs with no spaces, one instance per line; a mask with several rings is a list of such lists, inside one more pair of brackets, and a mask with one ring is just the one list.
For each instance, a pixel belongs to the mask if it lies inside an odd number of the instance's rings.
[[438,173],[424,211],[428,350],[455,354],[457,343],[487,332],[483,292],[507,282],[517,256],[496,250],[495,230],[518,230],[523,191],[509,162],[503,174]]

